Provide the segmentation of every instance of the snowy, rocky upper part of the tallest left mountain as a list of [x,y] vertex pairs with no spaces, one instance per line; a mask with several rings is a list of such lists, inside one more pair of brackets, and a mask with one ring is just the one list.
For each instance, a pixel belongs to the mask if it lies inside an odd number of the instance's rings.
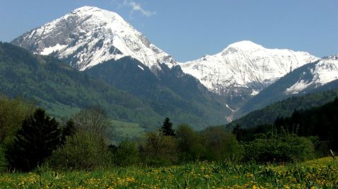
[[[117,13],[83,6],[12,41],[40,55],[56,53],[83,71],[110,59],[130,56],[153,72],[176,65]],[[140,68],[141,69],[141,68]]]

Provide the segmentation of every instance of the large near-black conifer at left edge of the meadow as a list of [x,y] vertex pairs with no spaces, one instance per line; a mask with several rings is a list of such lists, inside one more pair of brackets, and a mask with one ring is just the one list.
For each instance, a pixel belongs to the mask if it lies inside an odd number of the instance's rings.
[[59,123],[37,108],[35,113],[23,120],[16,133],[13,146],[8,149],[8,161],[13,168],[31,171],[42,164],[61,144]]

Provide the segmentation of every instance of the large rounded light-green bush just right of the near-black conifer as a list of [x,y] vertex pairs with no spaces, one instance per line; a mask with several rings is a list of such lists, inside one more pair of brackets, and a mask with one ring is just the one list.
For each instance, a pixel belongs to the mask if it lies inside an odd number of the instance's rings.
[[93,170],[108,166],[111,162],[112,154],[104,138],[93,132],[81,131],[66,137],[66,143],[53,151],[47,166],[59,170]]

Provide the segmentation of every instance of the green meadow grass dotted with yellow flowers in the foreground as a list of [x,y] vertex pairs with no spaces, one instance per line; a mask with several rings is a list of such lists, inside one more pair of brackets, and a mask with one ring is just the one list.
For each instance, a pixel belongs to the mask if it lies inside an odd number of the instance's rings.
[[11,173],[0,188],[337,188],[338,161],[286,166],[197,162],[163,168]]

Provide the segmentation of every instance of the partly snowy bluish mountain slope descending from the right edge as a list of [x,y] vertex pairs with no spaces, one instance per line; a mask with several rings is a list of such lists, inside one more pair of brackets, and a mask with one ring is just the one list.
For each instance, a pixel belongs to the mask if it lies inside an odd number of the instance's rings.
[[248,101],[238,112],[244,115],[265,105],[281,101],[289,96],[302,95],[315,91],[335,88],[338,79],[337,55],[325,57],[303,67],[293,70],[271,86],[265,88],[257,96]]

